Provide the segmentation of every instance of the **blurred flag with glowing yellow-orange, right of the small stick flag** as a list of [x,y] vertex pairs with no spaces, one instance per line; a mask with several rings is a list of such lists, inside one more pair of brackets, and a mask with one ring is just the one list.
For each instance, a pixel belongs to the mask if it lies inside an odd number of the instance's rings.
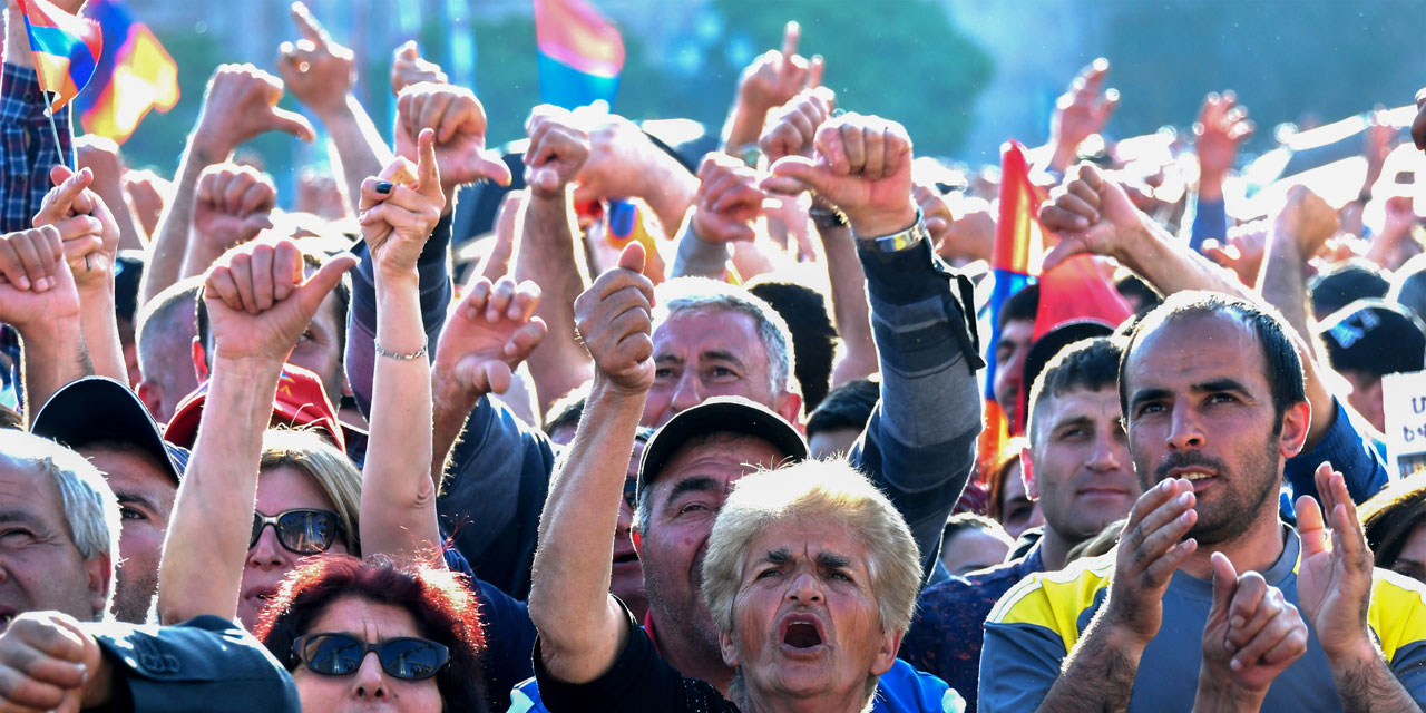
[[93,0],[88,16],[98,21],[104,44],[118,50],[100,58],[96,88],[76,106],[86,133],[123,144],[148,110],[168,111],[178,103],[178,64],[124,0]]

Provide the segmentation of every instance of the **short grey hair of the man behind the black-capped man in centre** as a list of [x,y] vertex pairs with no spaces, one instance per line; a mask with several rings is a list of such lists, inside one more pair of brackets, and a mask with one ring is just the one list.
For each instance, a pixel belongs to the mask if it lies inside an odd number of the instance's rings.
[[773,305],[740,287],[702,277],[680,277],[659,285],[656,291],[655,324],[680,314],[732,309],[753,318],[757,337],[767,352],[767,376],[773,395],[796,394],[793,374],[797,355],[793,352],[793,332]]

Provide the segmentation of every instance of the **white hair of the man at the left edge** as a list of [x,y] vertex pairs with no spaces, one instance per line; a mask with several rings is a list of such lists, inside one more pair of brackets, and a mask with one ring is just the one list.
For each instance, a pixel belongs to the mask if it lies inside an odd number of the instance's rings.
[[[84,562],[108,558],[108,592],[114,597],[114,570],[118,568],[118,498],[110,489],[104,473],[94,463],[54,441],[23,431],[0,429],[0,461],[13,468],[47,475],[60,491],[60,508],[70,539]],[[103,619],[96,612],[96,619]]]

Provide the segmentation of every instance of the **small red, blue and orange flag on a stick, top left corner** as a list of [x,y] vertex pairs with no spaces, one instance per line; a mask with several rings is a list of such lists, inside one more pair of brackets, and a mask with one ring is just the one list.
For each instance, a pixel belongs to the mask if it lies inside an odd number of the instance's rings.
[[47,0],[20,0],[40,88],[54,94],[50,111],[68,104],[94,76],[104,39],[98,26]]

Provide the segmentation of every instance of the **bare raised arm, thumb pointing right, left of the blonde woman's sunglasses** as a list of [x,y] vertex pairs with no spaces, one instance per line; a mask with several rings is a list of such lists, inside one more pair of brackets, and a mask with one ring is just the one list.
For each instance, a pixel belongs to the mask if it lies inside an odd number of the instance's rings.
[[301,251],[281,240],[235,248],[208,271],[202,298],[212,325],[212,371],[158,568],[161,622],[237,616],[262,432],[282,362],[355,262],[351,255],[332,258],[304,281]]

